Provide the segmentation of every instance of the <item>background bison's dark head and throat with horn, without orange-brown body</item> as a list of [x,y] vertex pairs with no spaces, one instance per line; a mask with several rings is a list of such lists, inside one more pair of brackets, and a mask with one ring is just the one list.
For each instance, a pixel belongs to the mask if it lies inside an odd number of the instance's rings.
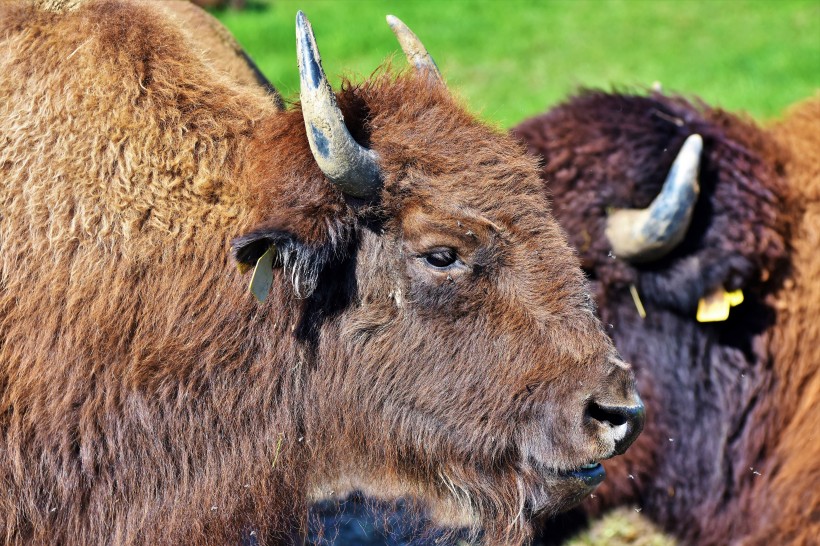
[[[725,509],[765,452],[743,427],[763,411],[760,338],[787,267],[781,152],[741,117],[659,93],[584,92],[513,134],[543,161],[554,213],[650,409],[596,502],[639,501],[700,542],[698,514]],[[728,320],[698,319],[701,301],[736,290],[745,301]]]

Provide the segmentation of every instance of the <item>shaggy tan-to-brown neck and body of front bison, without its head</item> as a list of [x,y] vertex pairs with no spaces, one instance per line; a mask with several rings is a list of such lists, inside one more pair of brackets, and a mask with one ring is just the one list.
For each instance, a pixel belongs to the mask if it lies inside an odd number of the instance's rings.
[[83,544],[292,528],[299,307],[257,304],[230,258],[262,215],[244,158],[278,110],[150,3],[87,5],[0,8],[0,527]]

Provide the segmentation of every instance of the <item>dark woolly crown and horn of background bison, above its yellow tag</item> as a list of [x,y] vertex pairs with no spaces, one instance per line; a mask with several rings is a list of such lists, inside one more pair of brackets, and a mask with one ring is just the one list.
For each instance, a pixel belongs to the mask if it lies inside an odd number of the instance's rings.
[[776,152],[741,118],[586,92],[513,134],[543,158],[555,215],[601,298],[633,285],[644,304],[693,315],[716,288],[759,285],[782,265]]

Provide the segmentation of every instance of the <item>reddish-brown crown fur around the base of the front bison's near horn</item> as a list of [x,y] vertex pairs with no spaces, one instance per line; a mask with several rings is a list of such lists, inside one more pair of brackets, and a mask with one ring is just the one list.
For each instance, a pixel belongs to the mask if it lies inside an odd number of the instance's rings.
[[[385,70],[362,83],[345,82],[337,101],[350,133],[378,154],[382,171],[381,198],[356,203],[356,215],[393,217],[414,202],[446,201],[494,221],[558,229],[548,215],[537,161],[509,135],[470,115],[445,87],[412,71]],[[246,184],[257,210],[314,211],[308,239],[320,237],[329,217],[352,221],[344,196],[313,160],[298,105],[266,123]]]

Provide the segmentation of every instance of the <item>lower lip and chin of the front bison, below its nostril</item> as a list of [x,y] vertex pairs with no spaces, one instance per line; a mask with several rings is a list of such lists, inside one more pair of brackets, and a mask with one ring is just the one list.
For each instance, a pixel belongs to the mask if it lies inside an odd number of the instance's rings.
[[572,508],[606,478],[606,470],[597,461],[565,469],[548,468],[534,459],[529,463],[539,477],[537,485],[526,488],[525,510],[530,517]]

